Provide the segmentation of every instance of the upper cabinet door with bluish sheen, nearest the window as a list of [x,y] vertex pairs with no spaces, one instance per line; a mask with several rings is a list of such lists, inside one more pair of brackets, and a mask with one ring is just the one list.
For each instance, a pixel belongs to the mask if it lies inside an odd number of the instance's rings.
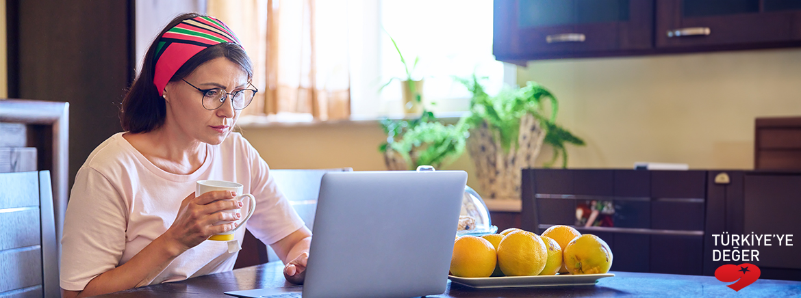
[[497,60],[604,56],[648,50],[651,0],[495,0]]

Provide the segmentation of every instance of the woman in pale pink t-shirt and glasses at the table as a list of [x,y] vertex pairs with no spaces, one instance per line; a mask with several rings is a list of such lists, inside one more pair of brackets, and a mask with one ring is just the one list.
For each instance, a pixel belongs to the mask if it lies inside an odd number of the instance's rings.
[[[256,93],[252,63],[215,18],[183,14],[155,39],[123,99],[127,132],[99,145],[78,170],[62,238],[63,296],[92,296],[233,268],[237,252],[209,236],[231,231],[236,193],[195,197],[195,182],[234,181],[256,197],[248,230],[304,280],[312,233],[239,133]],[[217,224],[226,221],[226,224]],[[242,241],[244,228],[235,232]]]

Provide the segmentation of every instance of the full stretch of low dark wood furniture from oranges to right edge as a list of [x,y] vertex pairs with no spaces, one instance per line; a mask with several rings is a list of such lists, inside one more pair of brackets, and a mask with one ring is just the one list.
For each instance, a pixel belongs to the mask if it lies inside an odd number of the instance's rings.
[[[715,235],[801,234],[799,193],[801,172],[523,169],[521,228],[566,224],[599,236],[614,253],[614,271],[711,276],[720,265],[750,263],[760,278],[801,280],[795,246],[715,242]],[[588,205],[602,221],[579,219]],[[715,260],[714,251],[726,249],[758,250],[759,260]]]

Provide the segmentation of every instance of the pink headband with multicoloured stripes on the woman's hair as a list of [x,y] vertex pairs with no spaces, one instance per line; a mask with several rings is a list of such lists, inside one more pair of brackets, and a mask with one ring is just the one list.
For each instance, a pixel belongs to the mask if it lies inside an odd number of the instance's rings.
[[164,93],[164,86],[175,72],[195,54],[223,42],[242,46],[233,31],[216,18],[207,16],[183,20],[165,32],[155,48],[153,84]]

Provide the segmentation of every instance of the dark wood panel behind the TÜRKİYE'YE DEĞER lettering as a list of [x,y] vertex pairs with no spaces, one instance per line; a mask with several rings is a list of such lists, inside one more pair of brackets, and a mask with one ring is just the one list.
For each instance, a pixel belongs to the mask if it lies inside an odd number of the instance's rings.
[[[801,172],[799,171],[709,171],[706,213],[706,236],[704,242],[704,275],[714,275],[722,264],[748,262],[714,261],[713,235],[773,235],[768,245],[740,243],[739,250],[756,250],[759,260],[751,264],[759,266],[759,278],[775,280],[801,280],[801,259],[794,242],[786,242],[776,236],[792,235],[791,240],[801,234],[801,225],[796,221],[801,210]],[[714,183],[718,177],[727,177],[727,184]],[[753,253],[752,253],[753,254]]]

